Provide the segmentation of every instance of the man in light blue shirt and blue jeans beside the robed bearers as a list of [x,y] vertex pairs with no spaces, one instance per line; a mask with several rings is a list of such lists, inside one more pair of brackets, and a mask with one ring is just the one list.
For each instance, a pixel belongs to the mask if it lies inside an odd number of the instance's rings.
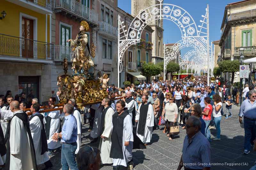
[[62,170],[77,170],[76,165],[76,139],[77,139],[77,124],[76,118],[72,115],[74,106],[65,104],[63,112],[65,113],[65,121],[60,133],[54,133],[52,139],[57,141],[60,138],[62,142],[61,149],[61,165]]

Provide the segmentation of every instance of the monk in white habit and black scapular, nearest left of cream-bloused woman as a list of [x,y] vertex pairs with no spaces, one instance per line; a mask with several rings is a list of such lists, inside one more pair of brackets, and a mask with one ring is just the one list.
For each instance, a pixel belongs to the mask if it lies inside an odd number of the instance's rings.
[[154,126],[154,110],[153,106],[148,102],[148,96],[142,96],[135,121],[138,122],[137,136],[147,145],[150,142]]

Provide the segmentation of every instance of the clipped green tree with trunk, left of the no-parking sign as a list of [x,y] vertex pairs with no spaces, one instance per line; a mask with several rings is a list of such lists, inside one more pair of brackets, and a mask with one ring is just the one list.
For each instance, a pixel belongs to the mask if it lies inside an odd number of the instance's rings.
[[235,72],[239,71],[239,61],[238,60],[223,60],[218,63],[221,72],[232,73],[231,84],[233,84]]

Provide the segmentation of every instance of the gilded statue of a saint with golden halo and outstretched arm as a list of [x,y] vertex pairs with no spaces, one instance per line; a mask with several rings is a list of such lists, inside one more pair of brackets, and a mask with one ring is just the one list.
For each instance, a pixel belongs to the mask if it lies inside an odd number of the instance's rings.
[[[90,66],[94,66],[92,58],[89,52],[88,36],[86,32],[89,30],[89,25],[86,21],[80,23],[80,32],[76,35],[75,40],[67,40],[71,42],[71,46],[74,46],[72,58],[72,69],[74,73],[88,73]],[[86,64],[86,65],[85,65]]]

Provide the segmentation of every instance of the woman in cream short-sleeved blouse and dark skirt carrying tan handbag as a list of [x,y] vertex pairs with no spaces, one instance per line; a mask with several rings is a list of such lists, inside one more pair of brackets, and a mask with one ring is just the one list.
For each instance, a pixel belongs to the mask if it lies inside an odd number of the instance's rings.
[[172,140],[172,134],[170,133],[170,128],[176,123],[178,116],[178,107],[176,103],[173,103],[174,97],[169,98],[169,103],[165,104],[164,111],[162,113],[162,118],[165,120],[165,126],[167,130],[167,136],[169,140]]

